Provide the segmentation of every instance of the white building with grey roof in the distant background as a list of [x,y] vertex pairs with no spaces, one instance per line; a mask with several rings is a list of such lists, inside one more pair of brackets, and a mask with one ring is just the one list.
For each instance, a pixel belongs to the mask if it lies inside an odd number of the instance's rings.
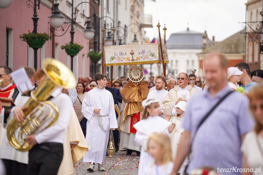
[[166,41],[170,63],[167,65],[167,77],[177,78],[181,72],[198,76],[199,61],[197,54],[202,52],[203,33],[187,28],[186,31],[173,33]]

